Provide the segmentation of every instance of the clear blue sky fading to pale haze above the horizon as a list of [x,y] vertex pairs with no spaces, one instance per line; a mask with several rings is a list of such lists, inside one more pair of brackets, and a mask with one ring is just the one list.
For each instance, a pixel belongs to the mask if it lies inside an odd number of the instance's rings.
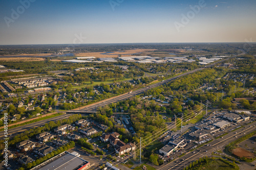
[[0,0],[0,45],[255,42],[255,0]]

